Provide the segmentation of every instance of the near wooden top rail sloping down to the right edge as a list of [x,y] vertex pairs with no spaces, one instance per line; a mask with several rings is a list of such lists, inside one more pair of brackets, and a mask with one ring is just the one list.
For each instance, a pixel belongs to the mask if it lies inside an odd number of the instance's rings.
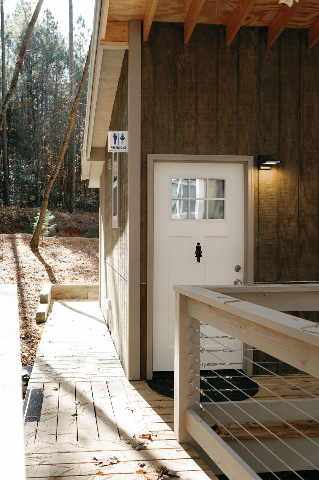
[[319,324],[207,288],[174,290],[187,298],[190,317],[319,378]]

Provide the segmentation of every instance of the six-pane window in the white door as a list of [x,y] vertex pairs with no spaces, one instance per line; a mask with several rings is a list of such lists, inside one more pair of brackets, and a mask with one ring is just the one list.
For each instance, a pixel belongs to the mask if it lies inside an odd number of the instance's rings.
[[227,178],[171,178],[170,220],[226,219]]

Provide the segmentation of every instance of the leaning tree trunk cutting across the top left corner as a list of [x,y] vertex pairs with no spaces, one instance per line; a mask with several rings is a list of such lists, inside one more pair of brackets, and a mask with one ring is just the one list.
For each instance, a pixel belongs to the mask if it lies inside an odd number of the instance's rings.
[[25,52],[26,52],[26,48],[28,46],[33,27],[35,26],[35,22],[38,18],[40,10],[41,10],[42,3],[43,3],[43,0],[39,0],[36,4],[35,11],[32,15],[32,18],[30,20],[28,28],[26,29],[26,32],[25,32],[24,40],[23,40],[22,46],[20,48],[18,59],[17,59],[16,64],[15,64],[15,68],[14,68],[12,81],[11,81],[9,90],[8,90],[6,96],[4,98],[2,98],[2,102],[1,102],[1,106],[0,106],[0,129],[3,126],[3,120],[4,120],[4,116],[6,114],[9,102],[10,102],[10,100],[12,98],[12,95],[14,94],[15,89],[17,87],[19,73],[20,73],[20,70],[21,70],[23,62],[24,62],[24,55],[25,55]]

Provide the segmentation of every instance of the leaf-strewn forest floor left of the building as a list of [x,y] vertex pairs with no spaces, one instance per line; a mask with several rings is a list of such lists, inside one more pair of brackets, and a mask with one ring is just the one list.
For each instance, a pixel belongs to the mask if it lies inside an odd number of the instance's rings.
[[[2,225],[8,221],[3,213],[3,207],[0,207],[0,232],[3,231]],[[98,222],[98,213],[86,213],[85,217],[88,215],[95,216],[95,219],[97,216]],[[84,225],[90,225],[85,222],[83,219]],[[76,228],[73,222],[69,222],[69,227]],[[99,271],[98,238],[45,237],[38,250],[29,247],[30,240],[31,234],[27,233],[0,233],[0,283],[13,283],[18,288],[23,365],[33,365],[43,331],[44,324],[35,322],[43,285],[98,283]]]

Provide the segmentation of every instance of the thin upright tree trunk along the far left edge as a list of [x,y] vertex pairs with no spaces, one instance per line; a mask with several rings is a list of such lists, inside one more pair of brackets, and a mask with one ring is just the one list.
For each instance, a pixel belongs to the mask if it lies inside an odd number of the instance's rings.
[[[1,73],[2,73],[2,99],[3,99],[6,96],[6,57],[5,57],[5,46],[4,46],[3,0],[0,0],[0,10],[1,10],[1,61],[2,61]],[[2,159],[3,159],[3,203],[5,205],[10,205],[6,116],[4,116],[3,118]]]

